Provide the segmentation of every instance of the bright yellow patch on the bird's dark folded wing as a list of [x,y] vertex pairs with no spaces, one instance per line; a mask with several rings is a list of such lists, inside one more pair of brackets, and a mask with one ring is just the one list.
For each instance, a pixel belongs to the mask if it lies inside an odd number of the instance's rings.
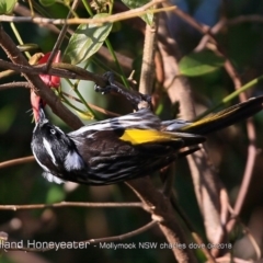
[[181,140],[172,133],[164,133],[155,129],[126,129],[119,139],[129,141],[133,145]]

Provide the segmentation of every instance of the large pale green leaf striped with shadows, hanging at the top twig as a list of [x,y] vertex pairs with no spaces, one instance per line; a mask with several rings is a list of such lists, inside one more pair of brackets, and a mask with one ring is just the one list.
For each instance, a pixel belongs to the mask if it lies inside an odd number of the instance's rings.
[[[106,18],[108,14],[100,13],[94,19]],[[80,64],[95,54],[103,45],[112,30],[112,23],[81,24],[70,37],[65,50],[64,61],[72,65]]]

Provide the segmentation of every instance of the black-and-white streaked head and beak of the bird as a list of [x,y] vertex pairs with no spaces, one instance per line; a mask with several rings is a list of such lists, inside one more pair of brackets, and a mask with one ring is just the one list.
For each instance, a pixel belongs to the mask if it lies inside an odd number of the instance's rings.
[[85,169],[85,163],[72,139],[46,118],[42,106],[38,108],[31,147],[36,161],[47,175],[61,176],[64,173]]

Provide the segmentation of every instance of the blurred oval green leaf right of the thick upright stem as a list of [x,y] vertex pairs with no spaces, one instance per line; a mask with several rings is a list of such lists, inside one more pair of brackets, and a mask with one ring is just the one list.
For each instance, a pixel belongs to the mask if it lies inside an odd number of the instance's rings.
[[222,67],[225,59],[210,50],[191,53],[179,62],[180,73],[187,77],[206,75]]

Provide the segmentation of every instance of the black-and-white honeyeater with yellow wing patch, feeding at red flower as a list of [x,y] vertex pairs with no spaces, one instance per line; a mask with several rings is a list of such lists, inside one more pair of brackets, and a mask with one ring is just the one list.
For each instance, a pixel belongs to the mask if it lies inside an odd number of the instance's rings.
[[31,148],[49,182],[115,184],[167,167],[185,147],[195,151],[207,134],[254,115],[262,104],[263,96],[251,98],[196,122],[161,121],[141,108],[68,134],[52,124],[39,105]]

